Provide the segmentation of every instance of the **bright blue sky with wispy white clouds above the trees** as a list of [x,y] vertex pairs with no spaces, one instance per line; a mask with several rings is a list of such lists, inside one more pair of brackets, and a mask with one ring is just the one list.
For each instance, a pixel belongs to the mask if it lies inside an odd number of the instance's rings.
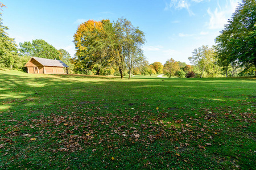
[[149,63],[167,59],[191,64],[188,57],[214,39],[241,0],[0,0],[3,25],[16,44],[43,39],[76,53],[73,35],[87,20],[130,20],[144,32]]

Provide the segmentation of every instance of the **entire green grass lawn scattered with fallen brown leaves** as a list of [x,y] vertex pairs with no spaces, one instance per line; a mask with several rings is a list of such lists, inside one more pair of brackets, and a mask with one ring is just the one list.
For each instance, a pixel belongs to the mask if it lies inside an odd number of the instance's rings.
[[0,72],[0,169],[255,169],[255,78]]

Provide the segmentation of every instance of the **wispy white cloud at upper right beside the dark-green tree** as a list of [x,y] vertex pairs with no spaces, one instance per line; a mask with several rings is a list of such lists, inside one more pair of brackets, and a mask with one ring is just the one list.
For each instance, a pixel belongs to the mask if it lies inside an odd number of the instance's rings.
[[239,0],[229,0],[226,1],[226,5],[221,7],[218,3],[218,7],[212,12],[208,8],[207,12],[210,16],[209,22],[207,23],[210,29],[221,29],[224,28],[224,25],[228,23],[228,19],[235,12]]

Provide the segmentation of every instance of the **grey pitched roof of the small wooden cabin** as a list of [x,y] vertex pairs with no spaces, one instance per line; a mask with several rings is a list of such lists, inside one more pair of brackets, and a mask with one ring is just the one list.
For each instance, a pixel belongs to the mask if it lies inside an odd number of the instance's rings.
[[[57,60],[57,59],[47,59],[47,58],[39,58],[39,57],[31,57],[31,59],[35,59],[43,66],[54,66],[54,67],[68,67],[64,62]],[[29,62],[29,61],[28,61]],[[25,67],[27,66],[28,62],[26,63]]]

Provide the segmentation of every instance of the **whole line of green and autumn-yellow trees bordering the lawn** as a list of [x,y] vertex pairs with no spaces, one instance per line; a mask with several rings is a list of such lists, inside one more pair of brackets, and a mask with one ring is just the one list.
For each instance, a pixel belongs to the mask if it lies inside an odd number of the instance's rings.
[[[1,11],[3,7],[0,2]],[[0,67],[24,69],[30,57],[41,57],[62,60],[71,73],[129,76],[129,79],[138,74],[165,74],[169,78],[256,75],[255,11],[255,0],[243,0],[216,37],[216,45],[203,45],[193,50],[188,57],[193,65],[173,58],[164,65],[148,63],[142,48],[146,42],[144,32],[125,18],[116,22],[88,20],[81,23],[73,40],[76,54],[71,57],[66,50],[57,50],[44,40],[16,45],[0,17]]]

